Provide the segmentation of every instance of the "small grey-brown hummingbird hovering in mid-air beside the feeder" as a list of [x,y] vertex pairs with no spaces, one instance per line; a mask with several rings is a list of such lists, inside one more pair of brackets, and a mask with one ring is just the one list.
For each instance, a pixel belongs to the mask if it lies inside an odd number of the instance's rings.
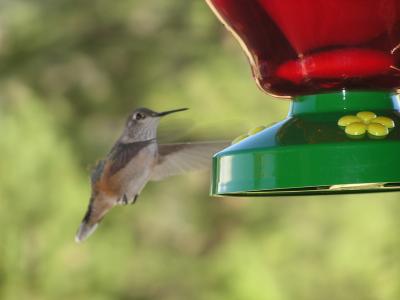
[[139,108],[126,120],[121,136],[91,174],[91,196],[75,236],[77,243],[89,237],[116,205],[136,203],[148,181],[204,169],[214,153],[227,142],[158,144],[157,128],[162,117],[187,108],[155,112]]

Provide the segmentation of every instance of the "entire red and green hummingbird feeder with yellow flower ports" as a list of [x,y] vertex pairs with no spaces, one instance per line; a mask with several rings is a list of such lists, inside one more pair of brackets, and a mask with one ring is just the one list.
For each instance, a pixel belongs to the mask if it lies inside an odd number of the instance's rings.
[[400,190],[399,0],[206,0],[286,119],[213,158],[214,195]]

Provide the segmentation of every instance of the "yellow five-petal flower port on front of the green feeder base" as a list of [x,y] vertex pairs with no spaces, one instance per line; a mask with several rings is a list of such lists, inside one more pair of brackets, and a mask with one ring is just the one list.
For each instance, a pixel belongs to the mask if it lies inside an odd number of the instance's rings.
[[384,139],[394,127],[391,118],[377,116],[370,111],[361,111],[357,115],[347,115],[339,119],[338,125],[352,139],[362,139],[368,133],[372,139]]

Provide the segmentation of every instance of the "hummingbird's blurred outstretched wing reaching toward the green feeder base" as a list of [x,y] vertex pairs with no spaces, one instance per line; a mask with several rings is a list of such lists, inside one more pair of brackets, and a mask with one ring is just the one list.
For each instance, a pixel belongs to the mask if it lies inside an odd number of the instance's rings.
[[211,166],[211,157],[228,145],[225,141],[159,145],[151,180],[207,169]]

